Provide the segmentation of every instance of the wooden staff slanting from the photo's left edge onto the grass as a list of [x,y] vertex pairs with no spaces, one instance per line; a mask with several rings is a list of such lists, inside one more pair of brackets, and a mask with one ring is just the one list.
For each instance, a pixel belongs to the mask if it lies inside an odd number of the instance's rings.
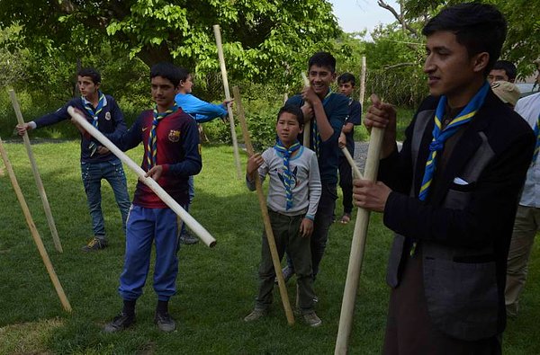
[[67,300],[66,294],[64,293],[64,288],[62,288],[62,285],[60,284],[60,281],[58,280],[58,276],[56,272],[54,271],[54,268],[52,267],[52,263],[50,262],[50,259],[49,259],[49,254],[47,253],[47,250],[45,249],[45,245],[43,245],[43,241],[41,241],[38,228],[36,228],[36,225],[33,223],[33,219],[31,218],[30,209],[28,209],[26,200],[24,200],[23,191],[21,191],[21,188],[19,187],[19,183],[17,182],[17,178],[15,177],[14,168],[7,157],[7,153],[5,152],[2,138],[0,138],[0,154],[2,154],[2,159],[4,160],[5,169],[7,170],[7,173],[9,173],[9,178],[12,182],[12,185],[14,186],[14,191],[15,191],[15,194],[17,195],[17,200],[19,200],[19,203],[21,204],[21,209],[23,209],[23,214],[24,214],[24,217],[26,218],[26,223],[28,224],[28,227],[30,228],[31,237],[33,238],[34,243],[38,247],[38,251],[40,252],[40,255],[41,255],[41,260],[45,264],[45,268],[47,268],[47,272],[49,272],[49,278],[52,281],[52,284],[54,285],[54,288],[57,291],[58,297],[60,298],[60,302],[62,303],[64,310],[66,310],[67,312],[71,312],[71,306],[69,305],[69,301]]

